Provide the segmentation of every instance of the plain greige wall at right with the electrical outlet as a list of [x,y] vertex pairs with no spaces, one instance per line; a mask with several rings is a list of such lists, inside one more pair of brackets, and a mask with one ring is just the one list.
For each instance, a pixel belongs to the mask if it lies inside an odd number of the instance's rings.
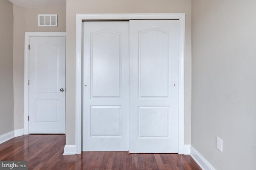
[[218,170],[256,167],[255,8],[192,0],[192,146]]

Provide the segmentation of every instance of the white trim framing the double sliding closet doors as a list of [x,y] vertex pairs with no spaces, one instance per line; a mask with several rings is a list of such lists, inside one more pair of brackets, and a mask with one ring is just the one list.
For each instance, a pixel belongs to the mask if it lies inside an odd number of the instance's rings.
[[[185,14],[76,14],[76,154],[82,151],[82,20],[179,20],[178,153],[184,154]],[[25,45],[26,47],[26,45]]]

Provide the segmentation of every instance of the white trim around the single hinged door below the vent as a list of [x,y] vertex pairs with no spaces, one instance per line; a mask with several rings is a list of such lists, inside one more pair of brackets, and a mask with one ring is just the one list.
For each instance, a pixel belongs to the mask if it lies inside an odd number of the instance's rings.
[[29,78],[29,38],[66,37],[66,32],[25,32],[24,61],[24,135],[28,135],[28,78]]

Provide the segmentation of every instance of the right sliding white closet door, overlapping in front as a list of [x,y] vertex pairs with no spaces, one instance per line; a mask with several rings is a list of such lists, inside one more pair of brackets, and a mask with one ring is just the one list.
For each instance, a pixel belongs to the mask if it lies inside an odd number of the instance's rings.
[[130,21],[130,152],[178,152],[178,20]]

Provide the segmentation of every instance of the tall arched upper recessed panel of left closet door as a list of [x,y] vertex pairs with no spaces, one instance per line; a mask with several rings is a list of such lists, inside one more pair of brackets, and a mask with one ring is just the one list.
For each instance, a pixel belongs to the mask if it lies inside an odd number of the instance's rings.
[[122,34],[102,30],[90,36],[91,97],[120,98]]

